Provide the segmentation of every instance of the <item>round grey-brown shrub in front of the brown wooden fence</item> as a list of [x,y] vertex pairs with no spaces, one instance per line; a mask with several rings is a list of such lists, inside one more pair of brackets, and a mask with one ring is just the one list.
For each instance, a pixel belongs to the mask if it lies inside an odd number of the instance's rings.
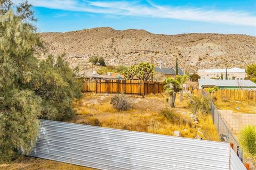
[[114,106],[118,111],[128,111],[131,105],[124,94],[114,95],[111,98],[110,104]]

